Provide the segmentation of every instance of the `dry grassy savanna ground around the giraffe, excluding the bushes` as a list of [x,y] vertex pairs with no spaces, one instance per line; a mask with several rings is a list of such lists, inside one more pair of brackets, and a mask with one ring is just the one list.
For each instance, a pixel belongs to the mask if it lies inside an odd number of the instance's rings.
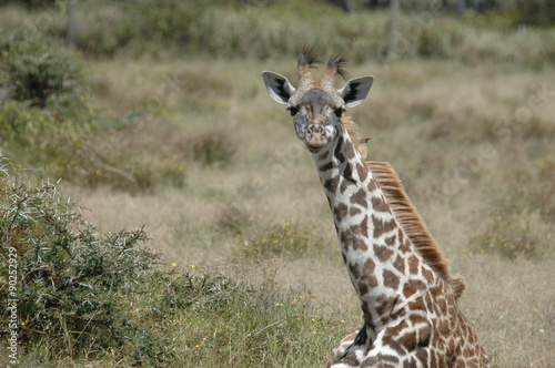
[[[354,30],[342,32],[353,32],[345,35],[353,44],[340,51],[352,51],[351,75],[373,74],[375,81],[369,99],[349,114],[372,136],[369,157],[396,168],[452,270],[465,277],[462,309],[492,365],[555,366],[553,30],[498,30],[481,25],[481,18],[448,14],[424,27],[406,14],[402,30],[417,28],[418,37],[405,37],[404,53],[371,58],[365,52],[381,50],[372,49],[380,40],[366,45],[364,38],[385,37],[385,13],[345,16],[317,6],[336,24],[352,17]],[[228,9],[228,16],[214,9],[206,22],[223,17],[236,25],[231,33],[244,17],[244,27],[256,29],[253,19],[262,18],[280,34],[285,31],[275,17],[292,17],[276,6]],[[13,8],[2,14],[4,24],[22,17]],[[48,29],[56,35],[54,25]],[[142,227],[144,244],[162,255],[157,267],[164,277],[188,278],[189,289],[175,289],[182,304],[154,307],[167,278],[151,279],[128,304],[171,350],[152,365],[323,366],[334,345],[360,327],[361,314],[314,164],[262,83],[263,70],[294,81],[295,52],[274,53],[253,38],[232,53],[231,45],[216,45],[233,35],[212,31],[202,42],[212,42],[214,52],[139,52],[137,40],[101,58],[75,52],[84,60],[89,109],[101,111],[102,121],[84,136],[101,147],[99,155],[115,159],[98,159],[103,164],[79,180],[62,176],[58,191],[99,232]],[[324,51],[334,47],[307,38]],[[9,147],[19,155],[32,150]],[[118,168],[119,160],[127,166]],[[34,180],[60,176],[48,162],[17,172],[38,167]],[[121,173],[123,184],[114,185],[108,171]],[[186,303],[193,292],[202,295]],[[26,346],[21,361],[133,364],[124,345],[99,349],[91,343],[84,352],[73,351],[72,331],[65,331],[58,357],[49,352],[58,346],[49,343],[54,337],[44,334]]]

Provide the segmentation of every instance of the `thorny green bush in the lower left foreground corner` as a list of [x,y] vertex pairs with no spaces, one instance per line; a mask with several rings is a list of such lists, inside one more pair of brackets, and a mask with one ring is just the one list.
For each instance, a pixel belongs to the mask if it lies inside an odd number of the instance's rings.
[[[6,172],[0,203],[0,252],[3,259],[16,255],[18,275],[14,295],[2,288],[0,297],[19,299],[17,331],[24,349],[70,357],[118,351],[150,364],[170,357],[165,339],[129,308],[138,285],[160,262],[140,247],[147,239],[142,229],[99,233],[62,201],[56,185],[29,186]],[[7,283],[8,268],[0,278]],[[7,307],[0,305],[1,326],[8,326]],[[8,333],[0,330],[2,338]]]

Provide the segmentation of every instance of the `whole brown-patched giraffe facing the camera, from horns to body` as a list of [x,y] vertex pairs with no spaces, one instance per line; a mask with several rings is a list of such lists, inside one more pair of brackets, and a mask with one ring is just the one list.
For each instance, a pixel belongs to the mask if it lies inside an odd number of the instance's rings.
[[362,328],[343,339],[327,367],[488,367],[458,309],[464,280],[450,274],[391,166],[365,162],[356,126],[343,116],[363,102],[374,78],[336,90],[345,60],[331,58],[320,80],[310,70],[317,62],[314,49],[301,52],[296,89],[281,74],[262,76],[312,154],[362,309]]

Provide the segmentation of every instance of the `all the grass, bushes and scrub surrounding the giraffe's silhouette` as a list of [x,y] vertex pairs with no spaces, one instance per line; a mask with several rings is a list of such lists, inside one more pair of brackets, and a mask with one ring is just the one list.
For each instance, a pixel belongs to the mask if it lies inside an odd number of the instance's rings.
[[395,53],[383,1],[77,3],[69,49],[69,1],[0,2],[21,365],[319,367],[360,327],[313,164],[260,78],[294,81],[305,44],[375,75],[350,113],[466,278],[493,366],[553,365],[551,1],[404,2]]

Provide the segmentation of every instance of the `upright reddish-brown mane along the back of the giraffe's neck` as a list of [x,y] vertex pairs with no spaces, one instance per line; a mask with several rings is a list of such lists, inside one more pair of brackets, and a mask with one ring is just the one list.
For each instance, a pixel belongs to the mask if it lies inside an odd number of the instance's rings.
[[448,260],[443,256],[440,246],[411,203],[396,172],[386,162],[366,161],[366,164],[406,236],[422,255],[424,262],[451,286],[455,298],[458,298],[463,294],[466,283],[461,275],[450,273]]

